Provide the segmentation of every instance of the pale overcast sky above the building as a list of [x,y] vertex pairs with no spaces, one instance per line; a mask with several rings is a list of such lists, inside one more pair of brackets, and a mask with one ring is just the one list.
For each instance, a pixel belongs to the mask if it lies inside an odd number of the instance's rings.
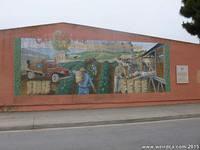
[[181,0],[0,0],[0,29],[66,22],[198,43]]

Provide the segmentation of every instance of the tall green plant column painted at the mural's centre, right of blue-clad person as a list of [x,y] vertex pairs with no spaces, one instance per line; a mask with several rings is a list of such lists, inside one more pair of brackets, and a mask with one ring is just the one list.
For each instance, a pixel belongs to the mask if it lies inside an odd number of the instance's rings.
[[98,86],[98,93],[99,94],[106,94],[110,93],[109,91],[109,84],[110,84],[110,65],[108,62],[104,62],[102,66],[102,71],[100,74],[99,79],[99,86]]

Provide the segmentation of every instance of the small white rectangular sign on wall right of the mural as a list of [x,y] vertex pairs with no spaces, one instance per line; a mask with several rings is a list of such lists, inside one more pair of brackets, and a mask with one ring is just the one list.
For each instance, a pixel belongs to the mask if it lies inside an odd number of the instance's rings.
[[188,65],[176,66],[176,82],[179,84],[189,83]]

